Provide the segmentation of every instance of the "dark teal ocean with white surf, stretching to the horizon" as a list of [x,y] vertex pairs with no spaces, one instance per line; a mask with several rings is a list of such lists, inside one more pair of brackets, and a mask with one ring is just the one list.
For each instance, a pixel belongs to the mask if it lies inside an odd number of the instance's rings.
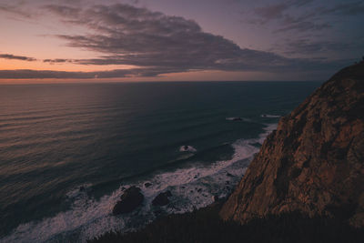
[[[279,117],[320,84],[2,85],[0,241],[85,242],[227,197]],[[143,206],[113,216],[130,186]],[[170,203],[152,206],[166,190]]]

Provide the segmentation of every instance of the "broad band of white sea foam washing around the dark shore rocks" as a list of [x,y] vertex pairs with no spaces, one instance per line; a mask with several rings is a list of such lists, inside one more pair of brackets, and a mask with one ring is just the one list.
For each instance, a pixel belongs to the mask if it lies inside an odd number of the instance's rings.
[[[107,231],[125,232],[143,226],[156,218],[157,211],[166,213],[183,213],[194,208],[205,207],[213,202],[213,196],[226,197],[231,189],[244,175],[248,163],[265,137],[277,127],[270,124],[265,132],[253,139],[239,139],[232,146],[235,153],[230,160],[217,161],[212,165],[178,168],[158,174],[147,181],[139,181],[135,185],[142,188],[146,197],[141,208],[121,217],[112,216],[112,208],[123,193],[119,187],[111,195],[95,200],[87,196],[87,187],[83,185],[71,190],[67,197],[73,201],[72,208],[58,213],[55,217],[41,221],[29,222],[15,228],[1,242],[86,242]],[[150,187],[144,187],[149,182]],[[133,185],[129,185],[133,186]],[[126,185],[124,185],[126,187]],[[170,190],[172,197],[166,207],[154,208],[151,201],[158,193]]]

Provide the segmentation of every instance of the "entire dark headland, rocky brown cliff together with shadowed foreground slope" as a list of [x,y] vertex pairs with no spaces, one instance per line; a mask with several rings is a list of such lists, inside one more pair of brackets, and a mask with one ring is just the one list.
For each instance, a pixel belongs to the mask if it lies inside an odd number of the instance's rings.
[[363,242],[364,62],[342,69],[268,136],[234,193],[90,242]]

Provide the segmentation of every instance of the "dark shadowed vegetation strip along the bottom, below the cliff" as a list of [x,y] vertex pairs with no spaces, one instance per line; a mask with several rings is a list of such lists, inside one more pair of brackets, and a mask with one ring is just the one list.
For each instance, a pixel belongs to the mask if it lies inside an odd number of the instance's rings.
[[192,213],[170,215],[137,232],[109,232],[88,242],[364,242],[364,228],[351,228],[340,219],[289,213],[254,219],[241,226],[221,220],[220,208],[215,204]]

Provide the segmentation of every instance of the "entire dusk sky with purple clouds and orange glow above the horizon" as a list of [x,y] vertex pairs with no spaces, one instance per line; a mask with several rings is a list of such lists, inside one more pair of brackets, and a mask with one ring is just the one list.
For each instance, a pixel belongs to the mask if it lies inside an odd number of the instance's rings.
[[0,0],[0,84],[324,81],[363,23],[364,0]]

